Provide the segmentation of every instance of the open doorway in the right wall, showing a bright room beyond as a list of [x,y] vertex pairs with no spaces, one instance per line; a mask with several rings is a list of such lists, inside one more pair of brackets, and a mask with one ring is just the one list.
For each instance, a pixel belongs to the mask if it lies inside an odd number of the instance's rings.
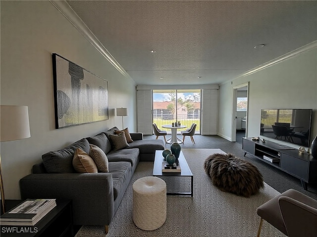
[[248,129],[248,88],[249,83],[233,87],[231,141],[241,144]]

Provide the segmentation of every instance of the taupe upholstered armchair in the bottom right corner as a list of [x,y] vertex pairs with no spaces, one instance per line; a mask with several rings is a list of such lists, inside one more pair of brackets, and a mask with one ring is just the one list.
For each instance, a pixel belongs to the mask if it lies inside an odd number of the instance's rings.
[[258,237],[263,220],[288,237],[317,236],[317,200],[290,189],[265,202],[257,209],[261,217]]

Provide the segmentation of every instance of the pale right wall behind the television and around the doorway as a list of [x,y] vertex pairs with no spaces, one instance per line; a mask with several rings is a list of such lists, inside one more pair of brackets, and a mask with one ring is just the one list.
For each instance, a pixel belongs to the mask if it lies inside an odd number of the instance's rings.
[[[313,109],[311,141],[317,135],[316,47],[219,87],[219,135],[230,140],[232,88],[249,84],[248,137],[260,134],[261,109]],[[297,148],[298,146],[293,146]]]

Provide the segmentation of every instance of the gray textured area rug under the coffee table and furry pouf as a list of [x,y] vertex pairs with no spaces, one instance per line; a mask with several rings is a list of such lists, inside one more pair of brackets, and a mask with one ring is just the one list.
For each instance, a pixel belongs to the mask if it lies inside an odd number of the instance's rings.
[[[211,183],[204,171],[205,159],[219,149],[182,149],[194,175],[194,196],[167,196],[167,217],[157,230],[138,229],[132,220],[132,184],[141,177],[152,176],[153,162],[140,162],[122,202],[109,225],[83,226],[76,237],[254,237],[260,217],[258,206],[280,193],[264,183],[264,189],[251,197],[222,192]],[[169,190],[190,191],[190,179],[164,178]],[[264,221],[262,237],[285,237]]]

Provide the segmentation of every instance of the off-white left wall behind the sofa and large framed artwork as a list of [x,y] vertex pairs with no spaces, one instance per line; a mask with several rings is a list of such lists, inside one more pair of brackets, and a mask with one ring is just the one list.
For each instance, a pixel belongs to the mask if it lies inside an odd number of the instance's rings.
[[[29,107],[31,137],[1,142],[5,198],[20,197],[19,180],[44,153],[108,128],[121,128],[114,109],[126,107],[124,125],[136,130],[135,82],[125,78],[49,1],[0,1],[1,105]],[[106,45],[105,45],[106,47]],[[52,53],[108,81],[109,119],[55,129]]]

